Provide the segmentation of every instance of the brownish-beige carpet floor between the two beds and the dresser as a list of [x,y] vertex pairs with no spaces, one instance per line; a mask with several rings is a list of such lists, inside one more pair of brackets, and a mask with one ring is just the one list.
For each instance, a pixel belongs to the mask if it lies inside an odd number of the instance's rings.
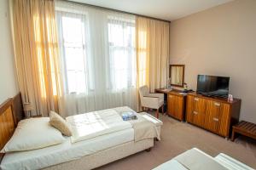
[[256,168],[255,140],[241,137],[231,142],[189,123],[178,122],[169,116],[160,115],[160,120],[164,122],[161,140],[154,143],[154,148],[150,152],[142,151],[97,169],[152,169],[193,147],[211,156],[223,152]]

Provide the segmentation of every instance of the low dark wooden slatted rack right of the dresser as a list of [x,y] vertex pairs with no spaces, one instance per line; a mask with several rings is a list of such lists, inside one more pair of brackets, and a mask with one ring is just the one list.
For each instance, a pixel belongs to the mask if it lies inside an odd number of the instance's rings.
[[256,124],[252,122],[241,121],[233,126],[231,141],[235,140],[236,133],[256,139]]

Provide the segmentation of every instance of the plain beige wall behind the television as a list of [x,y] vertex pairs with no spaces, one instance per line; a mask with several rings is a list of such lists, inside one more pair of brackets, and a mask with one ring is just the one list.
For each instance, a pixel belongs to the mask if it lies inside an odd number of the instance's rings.
[[171,23],[172,64],[185,65],[185,82],[198,74],[230,77],[241,98],[242,120],[256,123],[256,0],[236,0]]

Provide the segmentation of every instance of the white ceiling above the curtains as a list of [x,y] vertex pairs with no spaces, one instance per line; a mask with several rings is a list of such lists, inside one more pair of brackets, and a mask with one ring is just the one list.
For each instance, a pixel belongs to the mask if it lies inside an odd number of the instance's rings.
[[232,0],[71,0],[162,20],[177,20]]

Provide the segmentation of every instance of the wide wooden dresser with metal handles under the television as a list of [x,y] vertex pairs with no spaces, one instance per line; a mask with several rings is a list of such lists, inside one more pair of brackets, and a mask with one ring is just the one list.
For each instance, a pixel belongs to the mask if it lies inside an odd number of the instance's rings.
[[227,99],[188,94],[186,121],[228,138],[231,126],[239,121],[240,106],[241,99],[229,102]]

